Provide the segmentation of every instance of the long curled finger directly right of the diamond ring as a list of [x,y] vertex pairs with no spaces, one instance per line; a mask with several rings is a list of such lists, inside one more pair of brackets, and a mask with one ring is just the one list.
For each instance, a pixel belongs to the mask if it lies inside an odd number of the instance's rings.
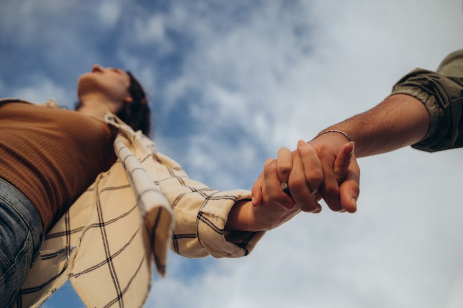
[[288,186],[291,196],[297,206],[307,212],[313,212],[318,209],[314,201],[312,192],[309,190],[304,173],[304,166],[297,151],[293,152],[293,168],[288,180]]

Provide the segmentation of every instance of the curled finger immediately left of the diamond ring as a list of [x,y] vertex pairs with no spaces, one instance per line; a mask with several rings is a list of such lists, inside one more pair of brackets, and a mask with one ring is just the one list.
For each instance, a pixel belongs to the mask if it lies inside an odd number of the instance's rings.
[[277,173],[277,161],[274,160],[264,167],[264,187],[270,201],[280,204],[288,209],[294,208],[293,200],[284,193]]

